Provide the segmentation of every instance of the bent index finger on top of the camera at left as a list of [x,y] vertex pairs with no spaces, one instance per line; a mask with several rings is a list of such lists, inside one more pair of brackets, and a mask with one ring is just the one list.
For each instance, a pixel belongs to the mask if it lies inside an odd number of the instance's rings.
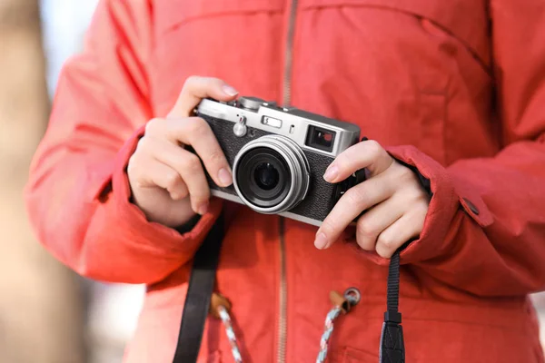
[[193,75],[187,78],[183,84],[182,92],[167,117],[182,118],[190,116],[195,106],[203,98],[210,97],[218,101],[231,101],[237,94],[238,92],[232,86],[218,78]]

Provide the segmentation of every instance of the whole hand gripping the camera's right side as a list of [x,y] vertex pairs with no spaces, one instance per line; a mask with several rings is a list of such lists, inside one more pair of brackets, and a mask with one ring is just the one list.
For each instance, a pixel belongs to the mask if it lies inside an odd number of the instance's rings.
[[341,182],[363,168],[368,170],[369,179],[344,193],[322,222],[314,245],[327,249],[362,211],[368,210],[357,221],[358,245],[388,259],[406,241],[420,235],[430,197],[411,169],[396,162],[372,140],[342,152],[323,178]]

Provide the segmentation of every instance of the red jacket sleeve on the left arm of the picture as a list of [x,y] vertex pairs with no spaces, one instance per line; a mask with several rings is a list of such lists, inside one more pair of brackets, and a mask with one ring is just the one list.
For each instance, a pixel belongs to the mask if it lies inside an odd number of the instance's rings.
[[193,258],[221,206],[180,234],[130,202],[125,168],[153,117],[146,1],[99,3],[84,51],[64,65],[25,201],[38,239],[81,275],[153,283]]

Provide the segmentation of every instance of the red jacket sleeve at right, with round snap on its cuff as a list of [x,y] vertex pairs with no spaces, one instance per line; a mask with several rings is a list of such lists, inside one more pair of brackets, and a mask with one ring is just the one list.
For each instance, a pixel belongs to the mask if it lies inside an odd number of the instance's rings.
[[490,11],[505,147],[447,168],[412,147],[389,152],[433,192],[401,262],[475,295],[516,296],[545,289],[545,3],[494,0]]

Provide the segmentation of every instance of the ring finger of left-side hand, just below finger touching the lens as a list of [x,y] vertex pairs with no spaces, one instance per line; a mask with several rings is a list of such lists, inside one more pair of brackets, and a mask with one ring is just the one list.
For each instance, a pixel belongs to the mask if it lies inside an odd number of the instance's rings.
[[144,138],[141,142],[147,153],[180,174],[189,191],[193,211],[204,214],[208,209],[210,190],[199,157],[171,142],[154,138]]

